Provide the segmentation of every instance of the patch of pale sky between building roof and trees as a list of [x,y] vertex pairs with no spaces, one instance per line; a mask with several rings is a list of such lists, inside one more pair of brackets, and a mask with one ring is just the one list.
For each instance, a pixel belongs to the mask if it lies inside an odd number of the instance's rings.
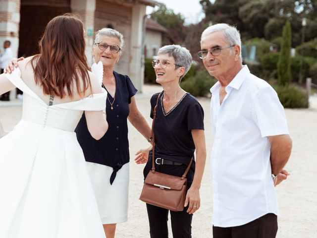
[[[176,14],[181,13],[185,18],[185,24],[198,23],[205,17],[199,0],[156,0],[164,3],[167,8],[172,9]],[[147,7],[147,14],[151,14],[153,7]]]

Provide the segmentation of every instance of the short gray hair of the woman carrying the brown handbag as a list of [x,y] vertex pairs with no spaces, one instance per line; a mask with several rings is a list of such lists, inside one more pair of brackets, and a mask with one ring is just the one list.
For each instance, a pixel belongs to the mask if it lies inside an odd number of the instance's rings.
[[[167,54],[169,57],[173,57],[175,60],[175,64],[185,67],[185,73],[179,78],[180,82],[180,80],[185,76],[185,74],[189,71],[190,66],[192,65],[192,55],[190,54],[189,50],[179,45],[163,46],[159,49],[158,55],[165,54]],[[175,68],[178,67],[179,66],[175,65]]]

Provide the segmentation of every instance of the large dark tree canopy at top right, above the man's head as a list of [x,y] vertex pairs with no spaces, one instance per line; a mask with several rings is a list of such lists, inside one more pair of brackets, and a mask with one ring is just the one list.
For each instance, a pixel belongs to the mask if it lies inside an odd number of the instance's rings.
[[317,0],[201,0],[205,21],[236,25],[242,39],[264,37],[273,40],[282,35],[289,20],[292,46],[301,43],[302,19],[307,18],[306,41],[317,37]]

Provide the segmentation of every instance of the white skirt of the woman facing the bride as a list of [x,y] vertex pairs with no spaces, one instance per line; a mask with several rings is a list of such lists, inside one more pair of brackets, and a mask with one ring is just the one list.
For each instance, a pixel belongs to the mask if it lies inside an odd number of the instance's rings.
[[112,167],[86,162],[103,224],[128,220],[129,163],[122,166],[110,184]]

